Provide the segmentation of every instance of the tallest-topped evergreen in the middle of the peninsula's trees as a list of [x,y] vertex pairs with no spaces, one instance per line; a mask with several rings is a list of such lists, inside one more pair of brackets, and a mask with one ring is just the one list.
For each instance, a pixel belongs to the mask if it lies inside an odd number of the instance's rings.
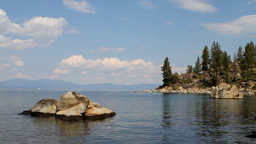
[[215,72],[215,76],[218,77],[221,66],[222,66],[222,50],[220,50],[220,44],[215,41],[212,43],[211,53],[210,53],[210,68]]

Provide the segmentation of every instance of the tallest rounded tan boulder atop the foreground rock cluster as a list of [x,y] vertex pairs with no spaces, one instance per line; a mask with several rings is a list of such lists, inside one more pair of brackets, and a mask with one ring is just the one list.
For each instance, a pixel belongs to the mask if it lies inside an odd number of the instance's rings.
[[89,102],[90,100],[82,94],[78,94],[76,92],[68,92],[66,94],[63,94],[58,100],[56,112],[60,110],[68,110],[77,106],[78,104],[84,104],[87,108]]

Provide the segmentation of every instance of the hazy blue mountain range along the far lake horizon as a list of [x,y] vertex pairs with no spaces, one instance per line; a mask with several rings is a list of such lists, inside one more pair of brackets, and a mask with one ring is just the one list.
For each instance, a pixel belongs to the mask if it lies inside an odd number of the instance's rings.
[[118,85],[118,84],[86,84],[79,85],[73,82],[64,82],[62,80],[26,80],[12,79],[0,82],[0,88],[63,88],[63,89],[98,89],[98,90],[149,90],[155,89],[162,84],[135,84],[135,85]]

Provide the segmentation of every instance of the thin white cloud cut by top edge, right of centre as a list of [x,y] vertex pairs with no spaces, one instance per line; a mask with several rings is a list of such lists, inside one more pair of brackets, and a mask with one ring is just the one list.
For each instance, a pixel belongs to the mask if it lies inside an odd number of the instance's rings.
[[191,10],[195,12],[217,12],[218,8],[207,4],[204,0],[170,0],[177,2],[180,8]]

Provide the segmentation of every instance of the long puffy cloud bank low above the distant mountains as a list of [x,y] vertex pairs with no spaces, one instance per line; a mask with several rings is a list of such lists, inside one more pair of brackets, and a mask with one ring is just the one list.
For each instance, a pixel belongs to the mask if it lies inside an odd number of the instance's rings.
[[[79,72],[81,76],[86,74],[90,77],[84,77],[85,80],[97,80],[97,82],[111,82],[111,80],[118,82],[119,80],[120,83],[123,83],[124,79],[130,81],[133,79],[134,82],[144,80],[144,83],[150,83],[152,78],[161,75],[160,66],[155,66],[150,61],[142,59],[127,61],[118,58],[90,60],[85,59],[82,55],[73,55],[62,60],[54,73],[61,74],[62,70],[66,69],[71,69],[74,73]],[[72,74],[71,71],[69,72]]]

